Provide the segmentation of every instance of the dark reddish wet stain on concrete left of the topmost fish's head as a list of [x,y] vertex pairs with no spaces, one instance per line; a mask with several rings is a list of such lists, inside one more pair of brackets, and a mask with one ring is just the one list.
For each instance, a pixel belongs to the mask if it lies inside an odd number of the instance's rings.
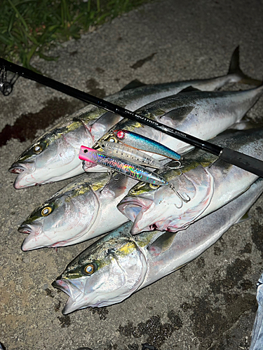
[[33,141],[38,130],[46,129],[55,120],[80,109],[80,102],[69,102],[65,99],[54,97],[46,102],[46,106],[37,113],[22,114],[14,125],[6,124],[0,132],[0,146],[6,145],[10,139],[18,139],[20,142]]

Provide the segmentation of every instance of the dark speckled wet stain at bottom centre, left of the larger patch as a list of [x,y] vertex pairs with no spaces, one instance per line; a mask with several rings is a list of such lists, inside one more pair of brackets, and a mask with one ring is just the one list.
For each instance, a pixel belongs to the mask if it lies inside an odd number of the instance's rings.
[[175,330],[182,328],[182,320],[180,316],[175,314],[175,311],[171,310],[167,314],[170,323],[161,323],[161,316],[152,316],[146,322],[133,325],[128,321],[127,325],[119,325],[119,332],[126,337],[140,338],[143,335],[147,335],[147,342],[153,346],[159,347],[166,339],[170,337]]

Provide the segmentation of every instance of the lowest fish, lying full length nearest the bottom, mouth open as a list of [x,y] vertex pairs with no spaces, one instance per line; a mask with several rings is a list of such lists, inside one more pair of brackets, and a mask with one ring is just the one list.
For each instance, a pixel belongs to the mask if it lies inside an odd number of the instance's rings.
[[128,222],[95,241],[52,283],[69,296],[62,314],[122,302],[137,290],[180,269],[242,218],[261,195],[262,183],[259,179],[241,196],[186,230],[131,236]]

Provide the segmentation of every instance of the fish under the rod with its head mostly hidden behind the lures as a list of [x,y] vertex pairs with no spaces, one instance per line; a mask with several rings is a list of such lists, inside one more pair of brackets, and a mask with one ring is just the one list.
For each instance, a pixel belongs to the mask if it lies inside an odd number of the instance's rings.
[[[243,91],[180,92],[177,95],[151,102],[137,109],[136,113],[206,141],[238,123],[262,96],[262,93],[263,85]],[[104,134],[97,144],[103,141],[119,142],[114,135],[114,130],[135,132],[135,134],[140,134],[142,137],[147,137],[175,150],[180,155],[194,148],[175,137],[128,119],[123,119],[114,125],[112,130]],[[96,144],[93,148],[97,148]],[[150,153],[150,155],[156,160],[163,159],[163,156],[155,153]],[[85,171],[88,172],[89,169]],[[94,172],[95,168],[92,171]]]

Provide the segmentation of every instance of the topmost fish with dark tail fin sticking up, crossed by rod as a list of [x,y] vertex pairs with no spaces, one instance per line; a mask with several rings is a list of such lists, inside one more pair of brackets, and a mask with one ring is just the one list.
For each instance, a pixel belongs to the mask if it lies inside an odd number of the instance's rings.
[[[245,83],[257,84],[257,80],[245,76],[239,68],[239,51],[236,48],[231,58],[229,72],[225,76],[137,86],[112,94],[105,100],[135,111],[156,99],[177,94],[190,85],[201,90],[215,90],[227,83],[237,83],[242,80]],[[121,119],[121,116],[111,112],[105,113],[103,109],[91,105],[69,116],[36,139],[13,162],[9,172],[17,174],[14,181],[15,189],[61,181],[82,174],[84,171],[79,160],[81,145],[92,147]],[[93,170],[95,171],[95,168]],[[97,171],[102,172],[104,168],[97,167]]]

